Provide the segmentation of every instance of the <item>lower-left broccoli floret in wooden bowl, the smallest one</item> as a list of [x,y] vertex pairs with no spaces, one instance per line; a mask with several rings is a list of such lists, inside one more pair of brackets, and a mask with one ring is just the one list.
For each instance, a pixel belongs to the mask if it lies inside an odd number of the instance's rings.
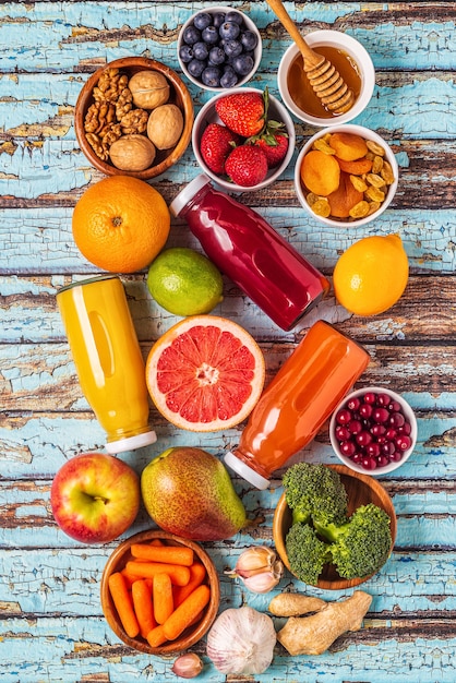
[[300,522],[291,525],[285,544],[291,572],[301,582],[316,585],[324,565],[331,562],[329,546],[311,526]]

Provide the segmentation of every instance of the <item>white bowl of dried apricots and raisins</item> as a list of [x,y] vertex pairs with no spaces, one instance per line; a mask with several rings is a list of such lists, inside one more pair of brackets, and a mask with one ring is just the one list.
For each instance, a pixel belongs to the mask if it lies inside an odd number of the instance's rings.
[[300,204],[320,223],[359,227],[392,203],[399,169],[389,145],[373,131],[347,123],[319,131],[295,168]]

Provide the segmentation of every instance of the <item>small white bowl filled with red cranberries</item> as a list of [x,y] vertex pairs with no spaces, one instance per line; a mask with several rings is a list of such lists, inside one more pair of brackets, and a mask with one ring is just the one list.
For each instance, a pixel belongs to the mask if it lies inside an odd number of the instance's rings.
[[340,462],[364,475],[394,471],[417,443],[417,418],[389,388],[369,386],[340,402],[329,422],[331,444]]

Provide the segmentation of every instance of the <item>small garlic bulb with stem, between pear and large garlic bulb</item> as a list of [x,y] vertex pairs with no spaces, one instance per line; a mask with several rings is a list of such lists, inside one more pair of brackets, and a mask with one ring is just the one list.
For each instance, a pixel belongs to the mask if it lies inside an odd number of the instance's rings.
[[228,576],[239,577],[253,592],[269,592],[284,574],[284,565],[271,548],[253,546],[239,556]]

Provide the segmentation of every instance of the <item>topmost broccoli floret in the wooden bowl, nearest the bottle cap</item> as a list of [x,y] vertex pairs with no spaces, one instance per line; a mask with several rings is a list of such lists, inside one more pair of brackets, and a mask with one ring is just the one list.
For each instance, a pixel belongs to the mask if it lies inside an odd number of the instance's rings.
[[347,520],[347,492],[339,474],[329,467],[297,463],[285,472],[283,484],[293,523],[326,526]]

